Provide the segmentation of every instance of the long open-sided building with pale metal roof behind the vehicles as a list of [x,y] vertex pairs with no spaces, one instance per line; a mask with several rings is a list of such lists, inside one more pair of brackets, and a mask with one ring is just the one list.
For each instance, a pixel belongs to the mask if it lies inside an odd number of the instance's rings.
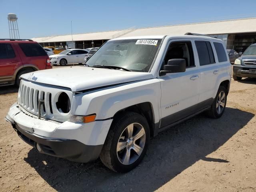
[[256,18],[74,34],[73,38],[71,35],[48,36],[32,38],[32,40],[42,46],[68,45],[73,48],[88,48],[100,46],[106,40],[121,36],[182,35],[186,32],[211,34],[222,39],[227,48],[243,51],[256,42]]

